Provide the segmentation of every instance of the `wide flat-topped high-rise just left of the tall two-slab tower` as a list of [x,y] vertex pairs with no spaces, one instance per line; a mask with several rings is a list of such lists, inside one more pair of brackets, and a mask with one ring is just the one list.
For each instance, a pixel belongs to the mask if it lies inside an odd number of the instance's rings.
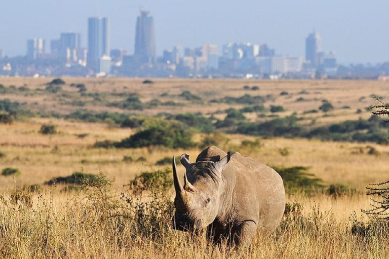
[[60,58],[66,62],[75,62],[79,51],[81,51],[81,34],[74,32],[61,33]]

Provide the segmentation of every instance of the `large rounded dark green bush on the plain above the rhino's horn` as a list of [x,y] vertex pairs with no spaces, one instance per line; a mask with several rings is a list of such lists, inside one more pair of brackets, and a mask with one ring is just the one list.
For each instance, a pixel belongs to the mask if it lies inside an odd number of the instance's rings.
[[189,148],[192,142],[193,132],[188,126],[180,122],[162,121],[159,124],[150,125],[142,131],[114,143],[118,148],[140,148],[149,146],[164,146],[167,148]]

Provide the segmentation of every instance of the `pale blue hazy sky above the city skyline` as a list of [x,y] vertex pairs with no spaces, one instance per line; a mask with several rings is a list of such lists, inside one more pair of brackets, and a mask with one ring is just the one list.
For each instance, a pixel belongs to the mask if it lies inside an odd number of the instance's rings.
[[174,45],[221,46],[229,41],[267,42],[277,54],[304,56],[306,35],[314,28],[323,49],[342,64],[389,61],[387,0],[13,0],[1,1],[0,49],[24,55],[27,38],[50,39],[81,32],[87,46],[87,19],[108,17],[111,49],[134,50],[139,7],[154,16],[157,52]]

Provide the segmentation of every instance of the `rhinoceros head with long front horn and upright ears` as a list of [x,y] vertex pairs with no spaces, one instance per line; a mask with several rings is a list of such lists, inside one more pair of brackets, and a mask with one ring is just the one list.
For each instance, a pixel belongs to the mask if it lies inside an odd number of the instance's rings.
[[231,154],[228,152],[219,161],[190,163],[188,155],[181,155],[181,164],[186,168],[182,185],[177,176],[173,156],[173,181],[176,191],[174,229],[197,231],[206,228],[215,220],[224,188],[222,170],[230,157]]

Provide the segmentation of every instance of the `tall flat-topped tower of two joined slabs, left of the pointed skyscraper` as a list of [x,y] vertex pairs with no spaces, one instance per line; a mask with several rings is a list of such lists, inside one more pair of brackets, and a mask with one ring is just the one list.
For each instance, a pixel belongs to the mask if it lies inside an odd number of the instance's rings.
[[109,56],[109,21],[108,18],[92,17],[88,19],[88,66],[99,70],[99,61]]

